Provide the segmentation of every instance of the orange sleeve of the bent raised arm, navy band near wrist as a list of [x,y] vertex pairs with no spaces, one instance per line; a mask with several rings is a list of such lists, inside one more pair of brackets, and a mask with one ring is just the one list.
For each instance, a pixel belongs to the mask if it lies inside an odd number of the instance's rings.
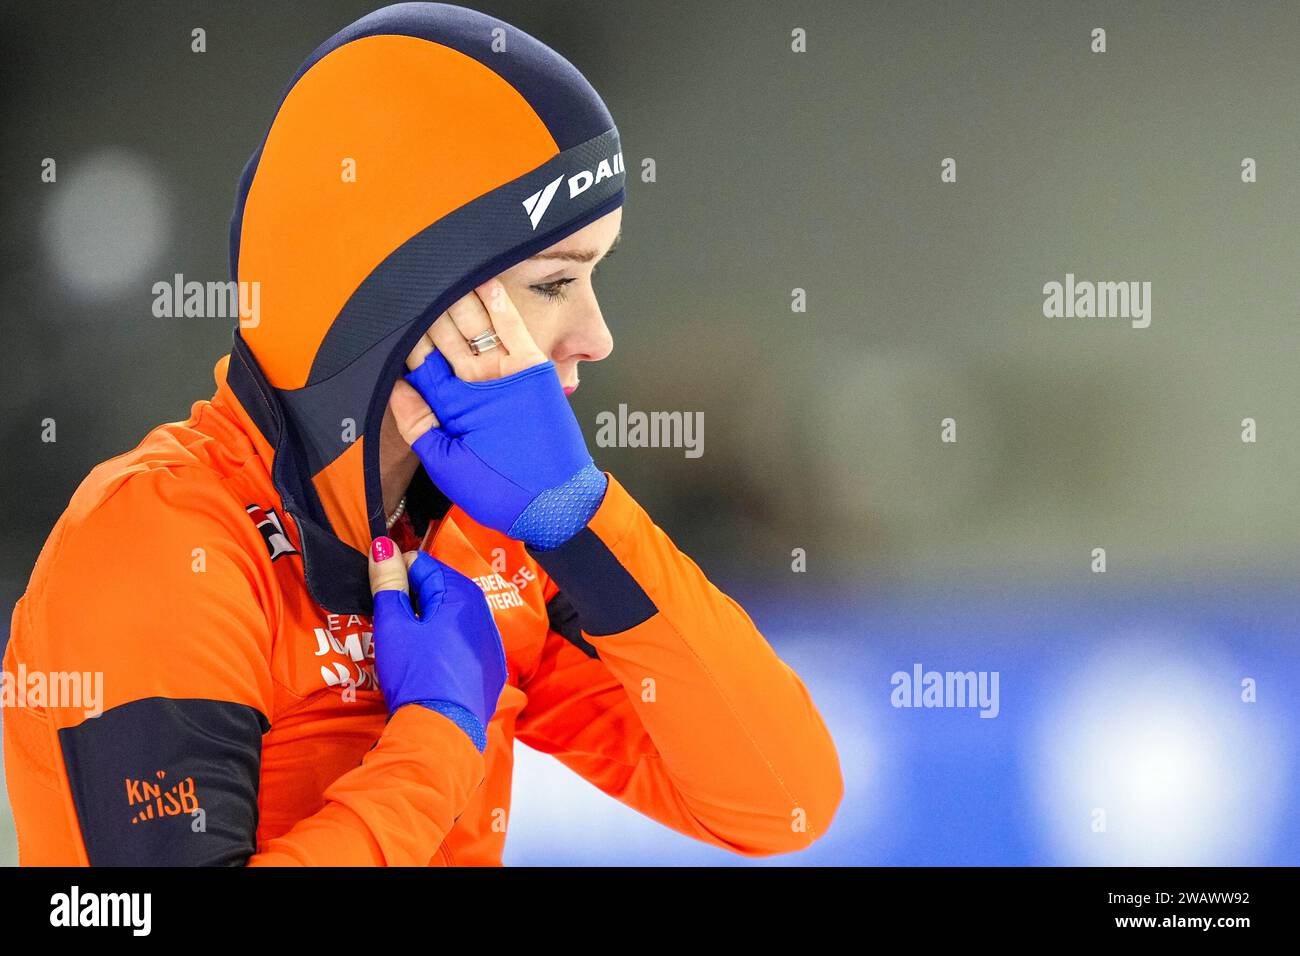
[[844,784],[807,689],[612,476],[584,531],[529,553],[558,593],[520,740],[737,853],[826,832]]

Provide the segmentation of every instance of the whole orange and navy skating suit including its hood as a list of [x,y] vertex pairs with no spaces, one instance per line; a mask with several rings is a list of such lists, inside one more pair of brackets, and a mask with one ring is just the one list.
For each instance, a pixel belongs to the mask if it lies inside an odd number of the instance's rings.
[[[510,676],[482,754],[432,710],[387,719],[365,549],[402,359],[450,302],[623,202],[603,103],[517,31],[493,60],[498,26],[389,8],[286,94],[231,230],[261,316],[211,401],[90,473],[14,609],[9,675],[103,679],[103,713],[62,692],[6,708],[22,864],[498,864],[516,737],[740,853],[829,825],[840,769],[807,691],[612,477],[586,529],[532,553],[417,476],[407,544],[478,580]],[[550,189],[575,169],[586,187]]]

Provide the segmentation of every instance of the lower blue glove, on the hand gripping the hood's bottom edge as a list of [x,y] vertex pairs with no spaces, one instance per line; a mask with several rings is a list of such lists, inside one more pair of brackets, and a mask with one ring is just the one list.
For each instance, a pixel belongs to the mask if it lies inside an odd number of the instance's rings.
[[482,753],[506,684],[506,652],[482,588],[420,553],[410,570],[420,617],[402,591],[374,594],[374,672],[389,714],[421,704],[448,717]]

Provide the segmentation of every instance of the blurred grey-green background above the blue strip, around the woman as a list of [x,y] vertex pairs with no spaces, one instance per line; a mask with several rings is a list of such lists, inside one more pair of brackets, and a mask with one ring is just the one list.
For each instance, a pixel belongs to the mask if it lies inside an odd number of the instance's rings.
[[[378,5],[4,5],[5,617],[86,472],[212,393],[229,324],[151,286],[228,277],[285,83]],[[472,5],[619,124],[616,346],[575,403],[589,438],[620,402],[703,412],[698,459],[593,450],[724,588],[1011,592],[1096,546],[1134,584],[1292,580],[1300,4]],[[1152,282],[1150,328],[1044,317],[1066,273]]]

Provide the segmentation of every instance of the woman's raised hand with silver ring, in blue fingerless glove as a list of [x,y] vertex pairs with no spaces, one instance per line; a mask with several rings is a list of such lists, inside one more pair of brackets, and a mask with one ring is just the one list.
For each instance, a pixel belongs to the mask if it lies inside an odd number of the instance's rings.
[[[406,381],[419,394],[394,390],[398,431],[476,522],[533,548],[558,548],[595,514],[607,479],[592,462],[555,363],[504,286],[493,280],[474,291],[477,306],[469,298],[412,351]],[[467,339],[482,332],[495,332],[500,345],[474,355]]]

